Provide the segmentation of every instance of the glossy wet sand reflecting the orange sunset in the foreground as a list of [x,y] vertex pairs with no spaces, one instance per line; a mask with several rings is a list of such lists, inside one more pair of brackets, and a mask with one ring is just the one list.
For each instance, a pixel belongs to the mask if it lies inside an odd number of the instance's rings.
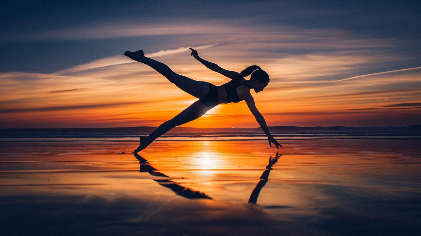
[[3,235],[419,235],[421,140],[0,143]]

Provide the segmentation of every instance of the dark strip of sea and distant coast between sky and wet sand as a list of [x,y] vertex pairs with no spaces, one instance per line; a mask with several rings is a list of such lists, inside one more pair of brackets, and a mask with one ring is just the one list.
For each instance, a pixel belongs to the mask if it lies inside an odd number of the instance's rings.
[[[139,142],[155,127],[0,129],[0,142]],[[421,125],[416,126],[271,126],[276,139],[421,139]],[[264,140],[260,128],[176,127],[157,141]]]

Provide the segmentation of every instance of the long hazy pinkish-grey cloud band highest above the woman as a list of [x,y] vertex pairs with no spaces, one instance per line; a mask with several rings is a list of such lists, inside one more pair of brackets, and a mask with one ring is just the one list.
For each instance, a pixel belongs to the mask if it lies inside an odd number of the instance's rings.
[[[197,42],[241,43],[244,51],[249,43],[264,42],[266,48],[298,50],[382,48],[393,46],[394,40],[372,38],[342,29],[301,28],[280,24],[258,24],[261,18],[171,19],[163,23],[133,21],[89,23],[57,30],[39,30],[0,37],[0,42],[39,42],[87,40],[171,35],[171,39]],[[229,23],[227,23],[229,22]],[[190,44],[190,43],[188,43]],[[245,46],[245,47],[244,47]]]

